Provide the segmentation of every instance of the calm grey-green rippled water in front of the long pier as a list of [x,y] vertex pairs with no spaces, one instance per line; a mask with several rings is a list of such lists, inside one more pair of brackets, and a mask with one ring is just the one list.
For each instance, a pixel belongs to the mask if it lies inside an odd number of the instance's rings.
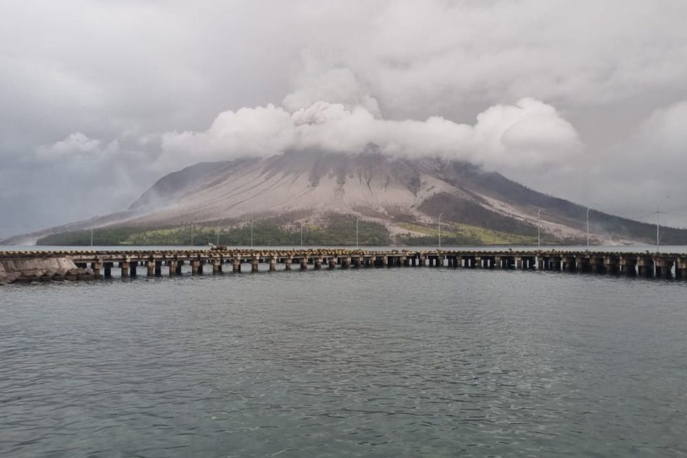
[[687,454],[687,282],[388,268],[0,287],[0,456]]

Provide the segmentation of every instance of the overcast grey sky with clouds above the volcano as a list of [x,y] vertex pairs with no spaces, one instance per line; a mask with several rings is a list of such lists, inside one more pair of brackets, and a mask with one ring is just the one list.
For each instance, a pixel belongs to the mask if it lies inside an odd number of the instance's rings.
[[0,236],[198,161],[466,159],[687,227],[687,1],[0,3]]

